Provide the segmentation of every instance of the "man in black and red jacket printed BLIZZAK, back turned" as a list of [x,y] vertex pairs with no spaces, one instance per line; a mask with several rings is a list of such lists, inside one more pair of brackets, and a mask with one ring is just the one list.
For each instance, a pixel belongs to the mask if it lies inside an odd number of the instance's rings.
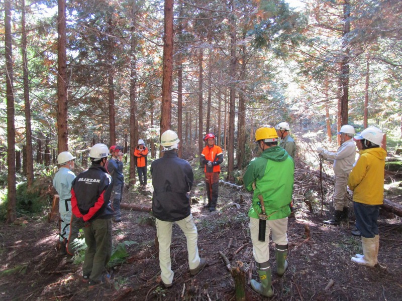
[[112,254],[114,211],[110,203],[113,180],[104,167],[108,156],[108,146],[93,145],[89,152],[92,165],[72,182],[72,212],[85,225],[87,248],[82,272],[83,281],[89,281],[89,287],[110,280],[106,265]]

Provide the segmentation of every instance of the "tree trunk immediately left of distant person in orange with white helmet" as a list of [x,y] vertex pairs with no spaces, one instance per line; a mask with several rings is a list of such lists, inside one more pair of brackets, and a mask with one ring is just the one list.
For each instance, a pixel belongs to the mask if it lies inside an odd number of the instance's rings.
[[136,173],[135,173],[135,156],[134,148],[137,145],[138,138],[138,120],[136,116],[137,101],[136,101],[136,82],[137,82],[137,64],[136,64],[136,17],[137,7],[133,4],[132,10],[132,24],[131,24],[131,45],[130,45],[130,167],[129,167],[129,186],[135,185]]

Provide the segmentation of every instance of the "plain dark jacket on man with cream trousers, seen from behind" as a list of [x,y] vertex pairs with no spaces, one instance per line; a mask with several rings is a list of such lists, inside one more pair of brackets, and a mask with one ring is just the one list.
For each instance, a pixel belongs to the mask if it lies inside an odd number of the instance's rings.
[[194,176],[190,164],[178,158],[175,150],[164,152],[151,164],[152,212],[165,222],[175,222],[190,215],[191,207],[188,192]]

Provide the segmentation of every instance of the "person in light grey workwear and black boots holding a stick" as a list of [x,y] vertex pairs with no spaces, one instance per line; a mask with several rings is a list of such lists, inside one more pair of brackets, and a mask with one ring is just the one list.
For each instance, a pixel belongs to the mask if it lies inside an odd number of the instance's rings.
[[341,145],[336,152],[330,152],[322,147],[317,148],[319,156],[334,162],[334,205],[335,214],[332,219],[324,221],[327,225],[339,225],[348,219],[348,200],[346,199],[348,177],[356,158],[356,145],[352,139],[355,129],[351,125],[343,125],[338,135],[341,135]]

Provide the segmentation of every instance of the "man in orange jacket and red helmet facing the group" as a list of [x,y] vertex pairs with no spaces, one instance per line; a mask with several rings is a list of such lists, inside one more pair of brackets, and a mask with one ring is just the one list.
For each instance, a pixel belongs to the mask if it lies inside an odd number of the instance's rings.
[[203,153],[199,157],[199,162],[205,165],[208,205],[204,207],[209,208],[210,211],[215,211],[219,193],[219,174],[221,173],[219,165],[223,162],[223,153],[222,148],[215,145],[215,134],[207,134],[204,140],[207,141],[207,146],[204,147]]

